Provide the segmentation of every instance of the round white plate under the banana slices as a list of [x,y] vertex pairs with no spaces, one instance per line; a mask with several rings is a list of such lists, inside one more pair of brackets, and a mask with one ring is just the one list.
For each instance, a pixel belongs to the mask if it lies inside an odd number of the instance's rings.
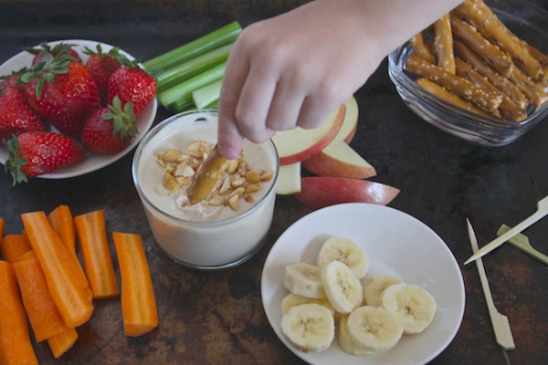
[[[365,357],[352,356],[332,346],[305,353],[281,332],[281,299],[289,292],[282,285],[284,267],[292,262],[315,262],[321,244],[330,236],[344,236],[361,245],[374,275],[399,276],[426,287],[436,298],[437,313],[422,333],[404,335],[394,348]],[[332,205],[301,218],[272,246],[261,277],[261,296],[270,326],[300,359],[311,364],[424,364],[433,360],[457,334],[464,314],[464,282],[455,257],[427,225],[394,208],[367,203]]]

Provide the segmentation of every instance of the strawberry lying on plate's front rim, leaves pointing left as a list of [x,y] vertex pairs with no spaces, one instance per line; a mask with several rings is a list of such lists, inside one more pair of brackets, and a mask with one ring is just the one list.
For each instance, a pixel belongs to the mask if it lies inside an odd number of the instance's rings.
[[5,172],[11,172],[16,183],[80,162],[84,151],[79,144],[67,136],[52,131],[24,131],[5,141],[9,158]]

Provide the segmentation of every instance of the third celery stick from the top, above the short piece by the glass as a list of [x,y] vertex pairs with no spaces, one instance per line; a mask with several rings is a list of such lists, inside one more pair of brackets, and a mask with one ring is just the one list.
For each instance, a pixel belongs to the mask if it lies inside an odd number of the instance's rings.
[[227,62],[223,62],[220,65],[205,70],[194,78],[188,78],[180,84],[175,85],[173,88],[158,93],[158,101],[165,108],[175,110],[185,108],[187,104],[192,104],[192,92],[195,89],[203,88],[205,85],[223,78],[226,68]]

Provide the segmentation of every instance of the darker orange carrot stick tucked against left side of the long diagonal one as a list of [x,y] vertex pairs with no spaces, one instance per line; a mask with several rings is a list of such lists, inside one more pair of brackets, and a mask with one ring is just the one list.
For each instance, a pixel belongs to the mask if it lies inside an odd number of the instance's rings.
[[[33,253],[34,254],[34,253]],[[36,255],[13,264],[21,290],[23,306],[37,342],[68,329],[47,289],[46,276]]]

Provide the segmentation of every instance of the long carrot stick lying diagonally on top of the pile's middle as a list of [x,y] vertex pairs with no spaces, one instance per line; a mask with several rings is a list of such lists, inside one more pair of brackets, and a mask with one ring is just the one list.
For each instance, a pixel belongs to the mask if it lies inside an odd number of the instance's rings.
[[79,280],[79,271],[75,268],[77,264],[67,247],[47,221],[44,212],[21,214],[21,218],[61,318],[70,328],[87,322],[93,305],[86,287]]

